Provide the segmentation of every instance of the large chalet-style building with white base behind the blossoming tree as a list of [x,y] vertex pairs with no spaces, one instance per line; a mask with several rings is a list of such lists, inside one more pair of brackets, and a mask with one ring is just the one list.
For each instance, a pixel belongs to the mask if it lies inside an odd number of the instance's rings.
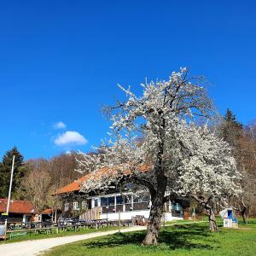
[[[55,192],[62,201],[62,218],[116,220],[119,219],[119,215],[121,219],[131,219],[136,216],[149,217],[150,196],[143,191],[134,194],[129,190],[120,193],[119,189],[112,189],[105,195],[94,192],[85,195],[81,187],[84,181],[90,179],[90,175],[89,173],[80,177]],[[106,169],[99,171],[98,175],[106,176]],[[183,219],[181,205],[180,201],[168,201],[164,207],[165,220]]]

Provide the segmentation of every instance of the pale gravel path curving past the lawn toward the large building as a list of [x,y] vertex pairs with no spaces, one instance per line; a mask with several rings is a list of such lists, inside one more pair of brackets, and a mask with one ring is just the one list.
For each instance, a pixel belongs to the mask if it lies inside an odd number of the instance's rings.
[[[144,226],[134,226],[121,230],[121,232],[130,232],[137,230],[145,230]],[[51,247],[60,246],[69,242],[94,238],[97,236],[106,236],[116,233],[117,230],[95,232],[77,236],[62,236],[55,238],[45,238],[40,240],[18,241],[0,245],[1,256],[34,256],[40,252],[49,250]]]

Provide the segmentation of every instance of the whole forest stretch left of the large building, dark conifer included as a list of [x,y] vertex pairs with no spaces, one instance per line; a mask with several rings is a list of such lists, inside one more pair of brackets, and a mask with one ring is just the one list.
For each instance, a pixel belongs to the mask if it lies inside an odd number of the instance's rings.
[[15,171],[12,199],[31,201],[39,211],[58,206],[57,198],[52,196],[55,190],[80,177],[78,172],[74,172],[76,160],[73,152],[49,160],[39,158],[24,161],[19,150],[13,148],[3,155],[0,164],[0,198],[8,196],[13,154]]

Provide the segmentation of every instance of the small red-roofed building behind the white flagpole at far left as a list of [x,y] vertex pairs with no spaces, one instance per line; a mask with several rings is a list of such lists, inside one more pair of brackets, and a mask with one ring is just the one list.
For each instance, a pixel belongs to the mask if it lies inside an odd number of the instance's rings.
[[[2,213],[7,210],[7,199],[0,199],[0,221],[4,221],[6,216]],[[36,207],[32,205],[29,201],[10,201],[9,204],[9,216],[8,222],[23,222],[27,223],[33,221],[35,215],[38,214]]]

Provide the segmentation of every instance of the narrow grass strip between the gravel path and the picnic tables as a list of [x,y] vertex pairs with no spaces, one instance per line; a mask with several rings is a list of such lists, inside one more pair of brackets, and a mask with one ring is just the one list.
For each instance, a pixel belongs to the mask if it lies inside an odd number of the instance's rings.
[[[103,232],[103,231],[118,230],[118,229],[119,229],[118,227],[102,227],[101,229],[97,229],[97,230],[95,228],[91,228],[88,230],[79,230],[79,231],[73,231],[73,230],[61,231],[60,230],[59,233],[51,233],[51,234],[46,234],[46,232],[43,232],[38,235],[36,235],[35,233],[27,233],[24,236],[15,236],[12,239],[9,239],[9,235],[8,235],[8,240],[0,241],[0,244],[15,242],[15,241],[45,239],[45,238],[51,238],[51,237],[84,235],[92,232]],[[123,227],[121,229],[123,229]]]

